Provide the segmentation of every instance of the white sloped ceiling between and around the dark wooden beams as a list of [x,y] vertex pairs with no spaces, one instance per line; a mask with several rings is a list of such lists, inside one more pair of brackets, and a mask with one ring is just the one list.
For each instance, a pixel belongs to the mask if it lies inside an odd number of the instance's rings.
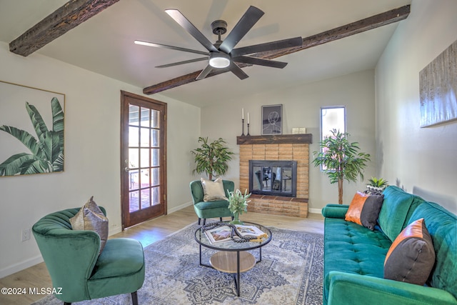
[[[13,41],[65,3],[66,0],[0,0],[0,41]],[[200,61],[156,69],[154,66],[199,55],[134,44],[138,39],[206,51],[165,9],[179,9],[210,41],[216,41],[211,32],[212,21],[224,19],[231,31],[248,6],[258,7],[265,14],[240,41],[239,47],[311,36],[406,4],[411,4],[411,0],[121,0],[36,53],[144,88],[206,66],[206,61]],[[206,106],[259,91],[373,69],[397,25],[278,58],[288,62],[284,69],[243,68],[249,76],[243,81],[226,73],[161,94]]]

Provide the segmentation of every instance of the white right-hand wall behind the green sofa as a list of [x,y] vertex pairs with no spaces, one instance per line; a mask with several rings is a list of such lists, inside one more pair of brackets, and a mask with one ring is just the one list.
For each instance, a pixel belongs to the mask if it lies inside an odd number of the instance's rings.
[[413,0],[376,66],[383,178],[457,213],[457,122],[419,127],[419,71],[457,39],[457,1]]

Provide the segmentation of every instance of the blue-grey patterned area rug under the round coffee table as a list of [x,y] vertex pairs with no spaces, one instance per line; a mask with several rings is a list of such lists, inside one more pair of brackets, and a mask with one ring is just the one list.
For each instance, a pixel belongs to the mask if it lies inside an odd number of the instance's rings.
[[[273,239],[262,248],[262,261],[241,274],[240,296],[232,274],[199,265],[196,224],[144,249],[146,279],[139,304],[322,304],[323,236],[270,228]],[[202,247],[202,261],[215,251]],[[258,249],[251,251],[258,259]],[[35,305],[62,304],[46,296]],[[131,304],[129,294],[73,304]]]

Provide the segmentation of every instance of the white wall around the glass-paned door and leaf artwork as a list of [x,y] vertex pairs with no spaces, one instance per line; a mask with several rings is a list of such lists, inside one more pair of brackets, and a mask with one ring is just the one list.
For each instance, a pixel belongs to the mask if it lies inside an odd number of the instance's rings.
[[[0,177],[1,278],[41,261],[33,237],[21,242],[22,229],[50,212],[82,206],[92,195],[107,209],[110,234],[121,230],[120,91],[141,94],[141,88],[39,54],[11,54],[3,42],[0,80],[66,94],[65,171]],[[168,104],[171,212],[191,201],[189,151],[200,133],[200,109],[161,96],[154,99]]]

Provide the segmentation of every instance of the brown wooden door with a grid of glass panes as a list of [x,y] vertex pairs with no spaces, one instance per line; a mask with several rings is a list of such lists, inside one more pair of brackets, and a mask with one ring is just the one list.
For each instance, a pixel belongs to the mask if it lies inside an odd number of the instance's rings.
[[123,228],[166,214],[166,104],[123,92]]

